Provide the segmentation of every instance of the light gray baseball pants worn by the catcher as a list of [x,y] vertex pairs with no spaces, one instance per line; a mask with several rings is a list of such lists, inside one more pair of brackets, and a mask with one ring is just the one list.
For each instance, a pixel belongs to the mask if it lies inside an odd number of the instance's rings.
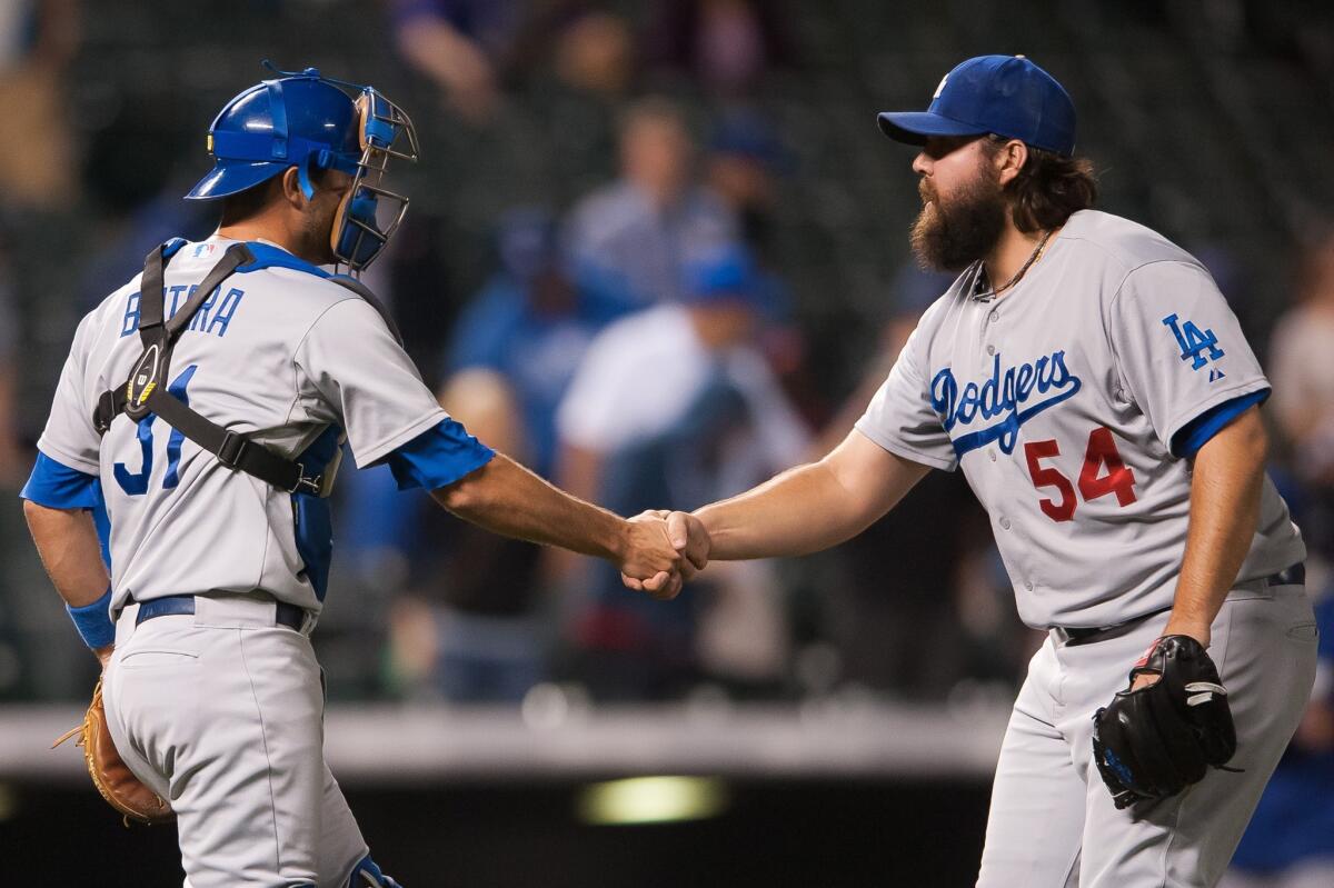
[[367,847],[324,763],[309,639],[257,593],[136,627],[137,607],[103,700],[116,749],[176,809],[185,888],[347,885]]

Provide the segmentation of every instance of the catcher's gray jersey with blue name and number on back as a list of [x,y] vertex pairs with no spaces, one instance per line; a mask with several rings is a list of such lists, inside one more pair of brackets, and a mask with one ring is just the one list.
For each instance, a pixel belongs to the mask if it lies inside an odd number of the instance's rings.
[[[168,317],[231,243],[187,244],[171,260]],[[447,419],[371,305],[299,260],[283,261],[243,267],[204,301],[172,355],[168,391],[228,429],[309,461],[308,473],[332,456],[340,432],[364,467]],[[112,611],[131,596],[264,589],[317,612],[331,548],[323,501],[307,505],[313,497],[233,472],[153,419],[119,417],[97,436],[99,395],[124,385],[143,351],[137,323],[139,276],[79,324],[37,443],[48,457],[100,477]]]

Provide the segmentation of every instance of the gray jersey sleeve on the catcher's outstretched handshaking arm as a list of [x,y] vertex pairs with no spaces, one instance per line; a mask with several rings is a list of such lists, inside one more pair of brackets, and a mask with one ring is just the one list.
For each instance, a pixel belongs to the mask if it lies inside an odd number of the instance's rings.
[[344,299],[320,315],[295,361],[347,432],[360,467],[448,419],[384,319],[362,299]]

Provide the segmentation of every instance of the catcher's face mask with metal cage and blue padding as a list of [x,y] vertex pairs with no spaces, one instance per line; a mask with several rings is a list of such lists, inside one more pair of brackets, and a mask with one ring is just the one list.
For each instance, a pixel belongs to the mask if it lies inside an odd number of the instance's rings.
[[384,176],[391,157],[418,159],[416,129],[402,108],[374,87],[356,99],[356,128],[362,156],[352,172],[352,187],[339,204],[329,231],[334,257],[360,272],[370,265],[403,223],[408,209],[404,195],[388,191]]

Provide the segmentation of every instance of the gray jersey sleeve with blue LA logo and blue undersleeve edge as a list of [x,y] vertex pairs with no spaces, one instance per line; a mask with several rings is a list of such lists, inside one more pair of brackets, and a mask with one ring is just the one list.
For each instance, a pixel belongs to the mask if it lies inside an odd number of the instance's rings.
[[1194,455],[1270,392],[1237,316],[1199,265],[1161,261],[1130,272],[1109,332],[1127,397],[1175,456]]

